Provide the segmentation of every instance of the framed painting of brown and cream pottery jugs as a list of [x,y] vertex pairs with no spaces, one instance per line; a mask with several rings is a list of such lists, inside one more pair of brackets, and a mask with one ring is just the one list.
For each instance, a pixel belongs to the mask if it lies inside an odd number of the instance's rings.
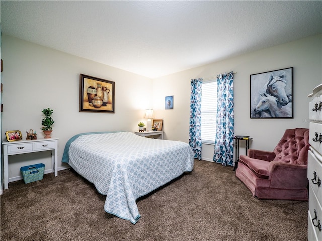
[[79,112],[114,114],[115,82],[81,74]]

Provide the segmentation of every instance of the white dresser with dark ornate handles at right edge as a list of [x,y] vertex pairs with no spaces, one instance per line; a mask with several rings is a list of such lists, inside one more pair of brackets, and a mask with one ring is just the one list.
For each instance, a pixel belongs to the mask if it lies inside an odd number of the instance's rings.
[[308,229],[307,238],[322,240],[322,84],[313,89],[308,95],[309,103],[309,143],[307,178],[308,189]]

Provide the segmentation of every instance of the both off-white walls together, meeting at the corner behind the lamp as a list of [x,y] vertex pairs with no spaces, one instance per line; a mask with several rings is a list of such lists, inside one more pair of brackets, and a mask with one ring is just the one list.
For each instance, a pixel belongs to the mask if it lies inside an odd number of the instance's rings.
[[[2,139],[8,130],[34,129],[42,137],[42,109],[54,110],[53,137],[59,138],[58,167],[70,137],[91,131],[137,130],[144,110],[153,108],[163,119],[165,138],[189,141],[190,79],[210,78],[234,71],[235,135],[250,135],[251,148],[272,150],[287,128],[308,128],[306,96],[322,80],[322,35],[263,49],[250,54],[150,80],[133,73],[70,54],[2,36]],[[193,58],[193,56],[191,56]],[[250,119],[250,74],[294,67],[294,118]],[[115,114],[80,113],[79,74],[115,81]],[[165,110],[165,96],[174,96],[174,109]],[[243,147],[243,145],[242,145]],[[241,149],[240,154],[243,154]],[[212,160],[213,146],[203,146],[203,159]],[[21,160],[26,160],[21,162]],[[43,162],[50,152],[10,157],[9,177],[21,166]]]

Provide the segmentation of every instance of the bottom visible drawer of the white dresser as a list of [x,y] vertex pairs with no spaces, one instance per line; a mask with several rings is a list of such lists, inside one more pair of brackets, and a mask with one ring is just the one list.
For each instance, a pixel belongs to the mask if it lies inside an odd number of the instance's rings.
[[[322,231],[320,231],[318,228],[318,226],[322,225],[322,207],[318,202],[317,197],[315,196],[315,193],[311,188],[311,185],[308,185],[308,186],[309,186],[308,208],[309,208],[311,218],[308,219],[307,221],[312,223],[312,226],[317,234],[316,235],[317,240],[322,240]],[[315,212],[316,212],[316,215],[315,215]]]

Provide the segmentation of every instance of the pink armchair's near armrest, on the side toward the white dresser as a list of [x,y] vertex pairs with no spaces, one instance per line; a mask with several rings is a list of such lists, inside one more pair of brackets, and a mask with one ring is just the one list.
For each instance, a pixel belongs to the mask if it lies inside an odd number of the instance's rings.
[[307,165],[270,162],[268,166],[270,187],[303,189],[307,187]]

